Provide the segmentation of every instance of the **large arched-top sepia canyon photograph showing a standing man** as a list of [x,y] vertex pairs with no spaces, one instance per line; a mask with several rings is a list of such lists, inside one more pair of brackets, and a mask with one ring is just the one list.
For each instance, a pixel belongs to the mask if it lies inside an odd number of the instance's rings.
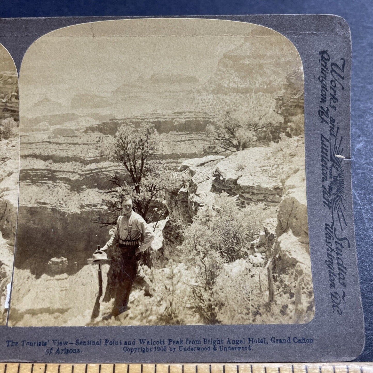
[[287,38],[212,19],[57,29],[25,53],[19,113],[6,53],[3,322],[8,307],[9,326],[313,319],[304,77]]

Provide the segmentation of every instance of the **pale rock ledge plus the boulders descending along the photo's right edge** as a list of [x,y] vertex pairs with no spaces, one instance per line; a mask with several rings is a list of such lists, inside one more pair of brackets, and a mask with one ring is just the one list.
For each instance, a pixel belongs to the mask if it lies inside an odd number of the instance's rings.
[[250,148],[227,157],[189,159],[179,166],[175,176],[178,183],[166,194],[170,213],[166,242],[170,224],[178,219],[191,222],[198,209],[212,204],[215,194],[221,191],[237,196],[243,203],[278,206],[277,216],[265,220],[257,239],[251,242],[248,261],[258,266],[270,261],[274,280],[291,271],[302,278],[307,288],[312,287],[303,138],[285,138],[280,144]]

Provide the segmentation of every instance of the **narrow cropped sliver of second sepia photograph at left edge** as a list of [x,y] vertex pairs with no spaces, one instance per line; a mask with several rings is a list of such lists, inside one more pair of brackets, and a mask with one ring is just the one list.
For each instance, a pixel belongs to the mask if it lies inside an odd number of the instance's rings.
[[0,325],[6,325],[16,237],[19,172],[18,73],[0,44]]

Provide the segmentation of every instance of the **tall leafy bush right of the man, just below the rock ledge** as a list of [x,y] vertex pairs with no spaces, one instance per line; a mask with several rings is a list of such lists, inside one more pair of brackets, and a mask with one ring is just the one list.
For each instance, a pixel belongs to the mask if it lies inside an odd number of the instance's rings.
[[184,230],[182,261],[197,269],[188,302],[206,324],[220,322],[217,311],[224,300],[217,296],[215,285],[224,265],[248,256],[254,237],[252,227],[258,219],[251,213],[250,209],[240,208],[235,197],[222,193],[216,196],[213,207],[201,208]]

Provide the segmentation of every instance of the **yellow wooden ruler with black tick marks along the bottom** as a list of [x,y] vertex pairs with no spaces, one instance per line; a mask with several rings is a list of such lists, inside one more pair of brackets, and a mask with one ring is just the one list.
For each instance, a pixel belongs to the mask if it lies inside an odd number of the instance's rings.
[[45,364],[0,363],[0,373],[373,373],[373,363]]

